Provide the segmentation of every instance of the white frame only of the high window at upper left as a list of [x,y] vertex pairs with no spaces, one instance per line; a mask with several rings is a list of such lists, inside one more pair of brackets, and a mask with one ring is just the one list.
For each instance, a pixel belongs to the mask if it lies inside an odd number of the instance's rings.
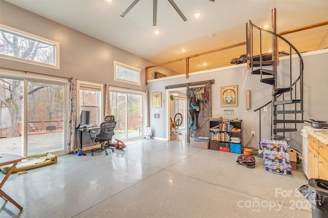
[[37,62],[37,61],[33,61],[33,60],[28,60],[28,59],[24,59],[24,58],[19,58],[19,57],[14,57],[14,56],[9,56],[9,55],[5,55],[5,54],[0,54],[0,59],[6,59],[6,60],[11,60],[11,61],[16,61],[16,62],[20,62],[20,63],[27,63],[27,64],[32,64],[35,66],[40,66],[40,67],[46,67],[46,68],[52,68],[52,69],[60,69],[59,63],[60,63],[60,58],[59,58],[59,42],[41,37],[41,36],[37,36],[34,35],[32,33],[28,33],[22,30],[18,30],[3,24],[0,24],[0,29],[3,29],[4,32],[8,32],[11,33],[13,35],[17,35],[17,36],[21,36],[21,37],[27,37],[30,38],[32,40],[38,41],[38,42],[43,42],[46,44],[50,44],[54,46],[54,64],[48,64],[48,63],[42,63],[42,62]]

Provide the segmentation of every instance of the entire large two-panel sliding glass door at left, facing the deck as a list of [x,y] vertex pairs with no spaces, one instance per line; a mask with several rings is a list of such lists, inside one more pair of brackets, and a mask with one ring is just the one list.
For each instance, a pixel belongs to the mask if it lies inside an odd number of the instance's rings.
[[0,76],[0,153],[66,151],[67,81]]

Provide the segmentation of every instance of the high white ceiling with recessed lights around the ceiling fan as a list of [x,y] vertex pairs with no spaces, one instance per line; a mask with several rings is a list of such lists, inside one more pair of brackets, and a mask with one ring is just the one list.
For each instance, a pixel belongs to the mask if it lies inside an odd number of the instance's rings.
[[[273,8],[277,32],[328,20],[327,0],[174,0],[187,21],[168,0],[158,0],[153,26],[152,0],[141,0],[120,16],[133,1],[6,0],[155,63],[245,41],[245,24],[250,19],[259,27],[271,24]],[[155,30],[160,33],[155,35]]]

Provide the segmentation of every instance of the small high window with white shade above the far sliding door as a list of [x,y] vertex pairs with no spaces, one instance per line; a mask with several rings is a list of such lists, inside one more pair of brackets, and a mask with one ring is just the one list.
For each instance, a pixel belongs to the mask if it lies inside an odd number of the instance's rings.
[[114,80],[140,85],[140,69],[114,61]]

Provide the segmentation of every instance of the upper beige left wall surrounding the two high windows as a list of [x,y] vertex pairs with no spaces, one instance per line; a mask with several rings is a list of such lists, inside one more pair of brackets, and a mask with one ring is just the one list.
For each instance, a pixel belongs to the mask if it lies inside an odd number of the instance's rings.
[[[0,67],[76,77],[81,81],[146,90],[145,67],[154,64],[103,41],[0,0],[0,22],[60,43],[60,70],[1,59]],[[114,81],[114,60],[141,69],[141,86]]]

